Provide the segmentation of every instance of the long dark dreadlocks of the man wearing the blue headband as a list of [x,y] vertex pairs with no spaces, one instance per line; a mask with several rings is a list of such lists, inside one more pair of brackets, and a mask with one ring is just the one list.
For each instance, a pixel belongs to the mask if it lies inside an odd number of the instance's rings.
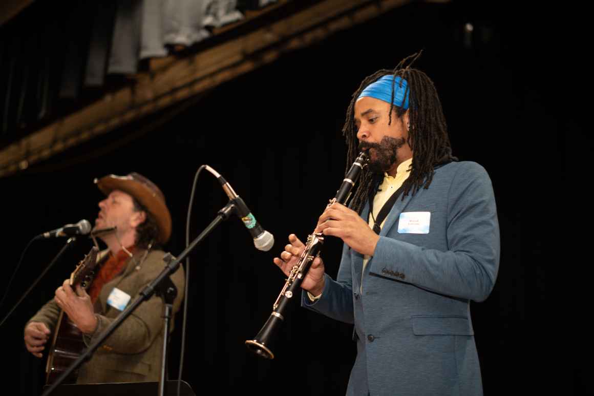
[[[394,70],[378,70],[371,76],[366,77],[359,86],[359,89],[353,93],[349,108],[346,112],[345,126],[342,128],[348,146],[346,169],[355,162],[359,153],[357,139],[357,130],[355,127],[355,102],[359,98],[362,90],[371,83],[379,80],[386,75],[392,75],[407,81],[404,98],[409,94],[409,136],[407,143],[412,149],[412,169],[410,175],[403,184],[402,197],[408,195],[411,188],[414,195],[419,188],[428,188],[433,180],[434,166],[444,164],[450,161],[457,161],[457,158],[451,155],[450,138],[447,134],[447,125],[441,109],[441,102],[437,96],[437,91],[431,79],[422,71],[410,68],[413,62],[421,56],[421,52],[407,56],[394,68]],[[412,61],[404,67],[407,61]],[[400,80],[402,84],[402,80]],[[399,106],[394,106],[394,81],[392,81],[391,105],[388,124],[392,121],[392,110],[396,110],[398,117],[402,117],[406,110]],[[404,100],[402,101],[404,103]],[[373,174],[368,168],[363,169],[359,184],[353,194],[352,209],[355,212],[361,212],[365,206],[365,201],[380,180],[378,175]]]

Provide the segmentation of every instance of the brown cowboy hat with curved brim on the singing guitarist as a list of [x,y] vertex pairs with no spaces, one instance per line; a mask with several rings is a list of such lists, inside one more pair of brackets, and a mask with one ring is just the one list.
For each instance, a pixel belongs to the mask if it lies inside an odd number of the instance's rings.
[[159,227],[159,242],[167,243],[171,236],[171,214],[163,200],[157,197],[146,184],[129,176],[107,175],[94,180],[99,190],[106,196],[113,190],[124,191],[134,197],[154,216]]

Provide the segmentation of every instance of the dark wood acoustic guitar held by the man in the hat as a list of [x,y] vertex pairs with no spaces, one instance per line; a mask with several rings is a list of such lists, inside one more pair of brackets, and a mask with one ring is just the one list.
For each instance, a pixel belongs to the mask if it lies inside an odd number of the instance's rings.
[[[74,289],[76,285],[87,289],[93,281],[94,268],[97,265],[96,246],[91,247],[89,254],[84,256],[77,267],[70,274],[70,285]],[[86,345],[83,341],[83,333],[71,322],[64,310],[60,311],[56,331],[53,333],[52,347],[49,350],[48,364],[46,365],[46,383],[53,384],[68,369],[74,360],[80,357]],[[78,376],[78,370],[64,379],[62,384],[74,384]]]

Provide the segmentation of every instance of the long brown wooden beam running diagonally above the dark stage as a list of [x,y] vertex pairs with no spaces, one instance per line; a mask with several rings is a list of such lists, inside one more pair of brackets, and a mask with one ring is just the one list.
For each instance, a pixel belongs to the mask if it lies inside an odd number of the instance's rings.
[[410,0],[326,0],[254,32],[230,39],[149,74],[134,86],[103,96],[0,151],[0,177],[26,169],[69,147],[241,76],[349,29]]

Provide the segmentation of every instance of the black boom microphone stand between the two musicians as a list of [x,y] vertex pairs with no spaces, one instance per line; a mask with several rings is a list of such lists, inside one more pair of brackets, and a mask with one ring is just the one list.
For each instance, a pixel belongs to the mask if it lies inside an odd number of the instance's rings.
[[[197,238],[195,238],[195,240],[192,241],[192,243],[189,244],[189,246],[182,252],[179,254],[179,256],[173,260],[170,261],[171,255],[170,254],[166,254],[165,257],[163,257],[163,259],[168,262],[167,265],[165,266],[165,269],[163,269],[163,271],[157,275],[157,277],[150,282],[149,285],[147,285],[147,287],[144,288],[144,290],[142,290],[139,293],[139,296],[136,298],[136,300],[132,301],[132,303],[126,308],[124,309],[119,315],[118,317],[113,320],[113,322],[97,337],[97,340],[94,341],[91,345],[89,345],[89,348],[87,348],[86,350],[83,351],[83,353],[74,361],[72,362],[72,364],[68,367],[68,369],[66,369],[64,372],[62,372],[62,374],[58,377],[58,379],[56,379],[56,381],[50,385],[48,388],[46,388],[46,390],[43,392],[42,396],[48,396],[50,393],[52,393],[56,387],[61,384],[62,382],[64,382],[64,379],[66,379],[75,369],[77,369],[83,362],[85,362],[86,360],[89,360],[91,357],[91,354],[97,350],[97,348],[99,348],[99,346],[101,344],[103,344],[103,341],[105,341],[106,338],[108,338],[114,331],[115,329],[118,328],[118,326],[124,322],[124,320],[126,318],[128,318],[128,316],[131,315],[132,312],[134,312],[135,309],[137,309],[137,307],[143,303],[143,301],[145,300],[149,300],[149,298],[153,295],[153,293],[159,289],[162,288],[162,290],[165,291],[165,295],[170,294],[170,291],[168,289],[170,289],[170,287],[168,285],[165,285],[165,287],[160,287],[160,283],[162,281],[164,281],[164,279],[168,279],[169,282],[171,282],[171,279],[169,278],[170,274],[173,274],[173,272],[175,272],[178,268],[179,268],[179,263],[182,262],[182,260],[185,259],[185,257],[189,254],[189,252],[191,252],[192,249],[194,249],[194,247],[196,247],[208,234],[210,234],[211,231],[214,230],[214,228],[217,227],[217,225],[219,225],[220,223],[222,223],[223,221],[225,221],[226,219],[229,218],[230,214],[233,213],[236,210],[235,205],[233,205],[232,201],[229,201],[227,203],[227,205],[225,206],[225,208],[220,209],[219,212],[217,213],[216,218],[208,225],[208,227],[206,227],[204,229],[204,231],[202,231],[200,233],[200,235],[198,235]],[[175,293],[177,293],[177,290],[175,290]],[[175,297],[175,296],[174,296]],[[166,301],[167,298],[164,298],[164,300]],[[168,304],[165,304],[164,307],[165,310],[165,315],[169,315],[169,309],[168,309]],[[168,322],[168,318],[165,318],[166,322]],[[168,326],[166,326],[166,329],[168,330]],[[168,334],[164,334],[163,335],[163,357],[162,357],[162,367],[161,367],[161,372],[160,372],[160,378],[159,378],[159,396],[165,396],[165,353],[167,350],[167,340],[168,340]]]

